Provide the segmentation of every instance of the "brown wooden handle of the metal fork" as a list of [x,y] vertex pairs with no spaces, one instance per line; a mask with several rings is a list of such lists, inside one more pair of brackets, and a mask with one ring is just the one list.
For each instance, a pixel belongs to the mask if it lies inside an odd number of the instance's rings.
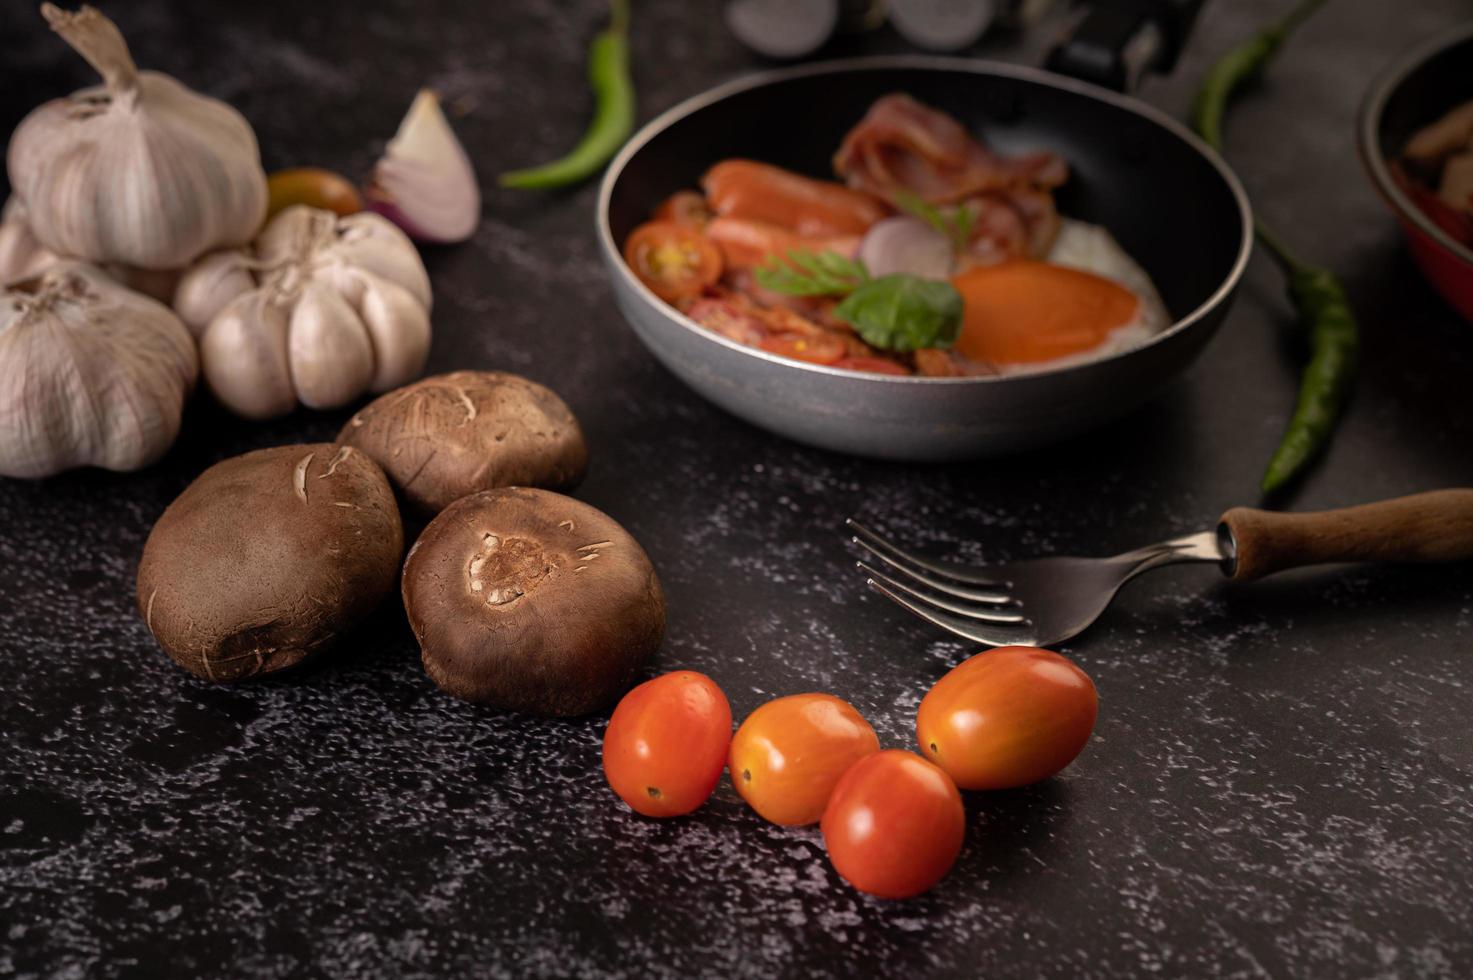
[[1329,561],[1460,561],[1473,559],[1473,489],[1307,514],[1234,507],[1223,514],[1224,531],[1236,582]]

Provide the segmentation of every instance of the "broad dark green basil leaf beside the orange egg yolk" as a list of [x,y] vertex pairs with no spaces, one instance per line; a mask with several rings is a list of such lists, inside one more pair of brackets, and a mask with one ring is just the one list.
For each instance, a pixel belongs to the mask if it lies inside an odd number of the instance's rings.
[[872,348],[949,348],[962,330],[962,295],[940,280],[884,276],[850,293],[834,315]]

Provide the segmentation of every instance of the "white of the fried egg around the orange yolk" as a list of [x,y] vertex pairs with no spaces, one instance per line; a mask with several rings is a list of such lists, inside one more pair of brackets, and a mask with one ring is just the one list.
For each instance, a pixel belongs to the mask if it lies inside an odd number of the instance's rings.
[[1150,281],[1146,270],[1119,246],[1106,228],[1087,221],[1062,218],[1059,236],[1053,240],[1053,248],[1044,256],[1046,262],[1077,268],[1084,273],[1094,273],[1100,279],[1119,283],[1140,301],[1136,317],[1109,332],[1109,335],[1094,348],[1052,358],[1049,361],[1033,361],[1030,364],[999,364],[999,374],[1030,374],[1034,371],[1050,371],[1059,367],[1096,361],[1111,354],[1119,354],[1139,348],[1150,337],[1171,326],[1171,314],[1161,302],[1156,284]]

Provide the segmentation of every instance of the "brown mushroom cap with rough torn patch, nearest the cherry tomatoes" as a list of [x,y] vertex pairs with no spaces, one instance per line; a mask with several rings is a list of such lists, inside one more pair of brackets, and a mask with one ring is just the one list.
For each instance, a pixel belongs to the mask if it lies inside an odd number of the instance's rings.
[[440,511],[404,563],[404,607],[436,684],[536,715],[608,704],[664,637],[664,592],[639,542],[541,489]]

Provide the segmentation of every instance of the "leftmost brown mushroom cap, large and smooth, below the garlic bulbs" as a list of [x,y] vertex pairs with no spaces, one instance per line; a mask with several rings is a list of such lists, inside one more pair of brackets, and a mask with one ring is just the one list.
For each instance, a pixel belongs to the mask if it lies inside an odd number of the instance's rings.
[[404,525],[383,472],[318,442],[217,463],[153,525],[138,612],[208,681],[275,673],[326,648],[393,589]]

